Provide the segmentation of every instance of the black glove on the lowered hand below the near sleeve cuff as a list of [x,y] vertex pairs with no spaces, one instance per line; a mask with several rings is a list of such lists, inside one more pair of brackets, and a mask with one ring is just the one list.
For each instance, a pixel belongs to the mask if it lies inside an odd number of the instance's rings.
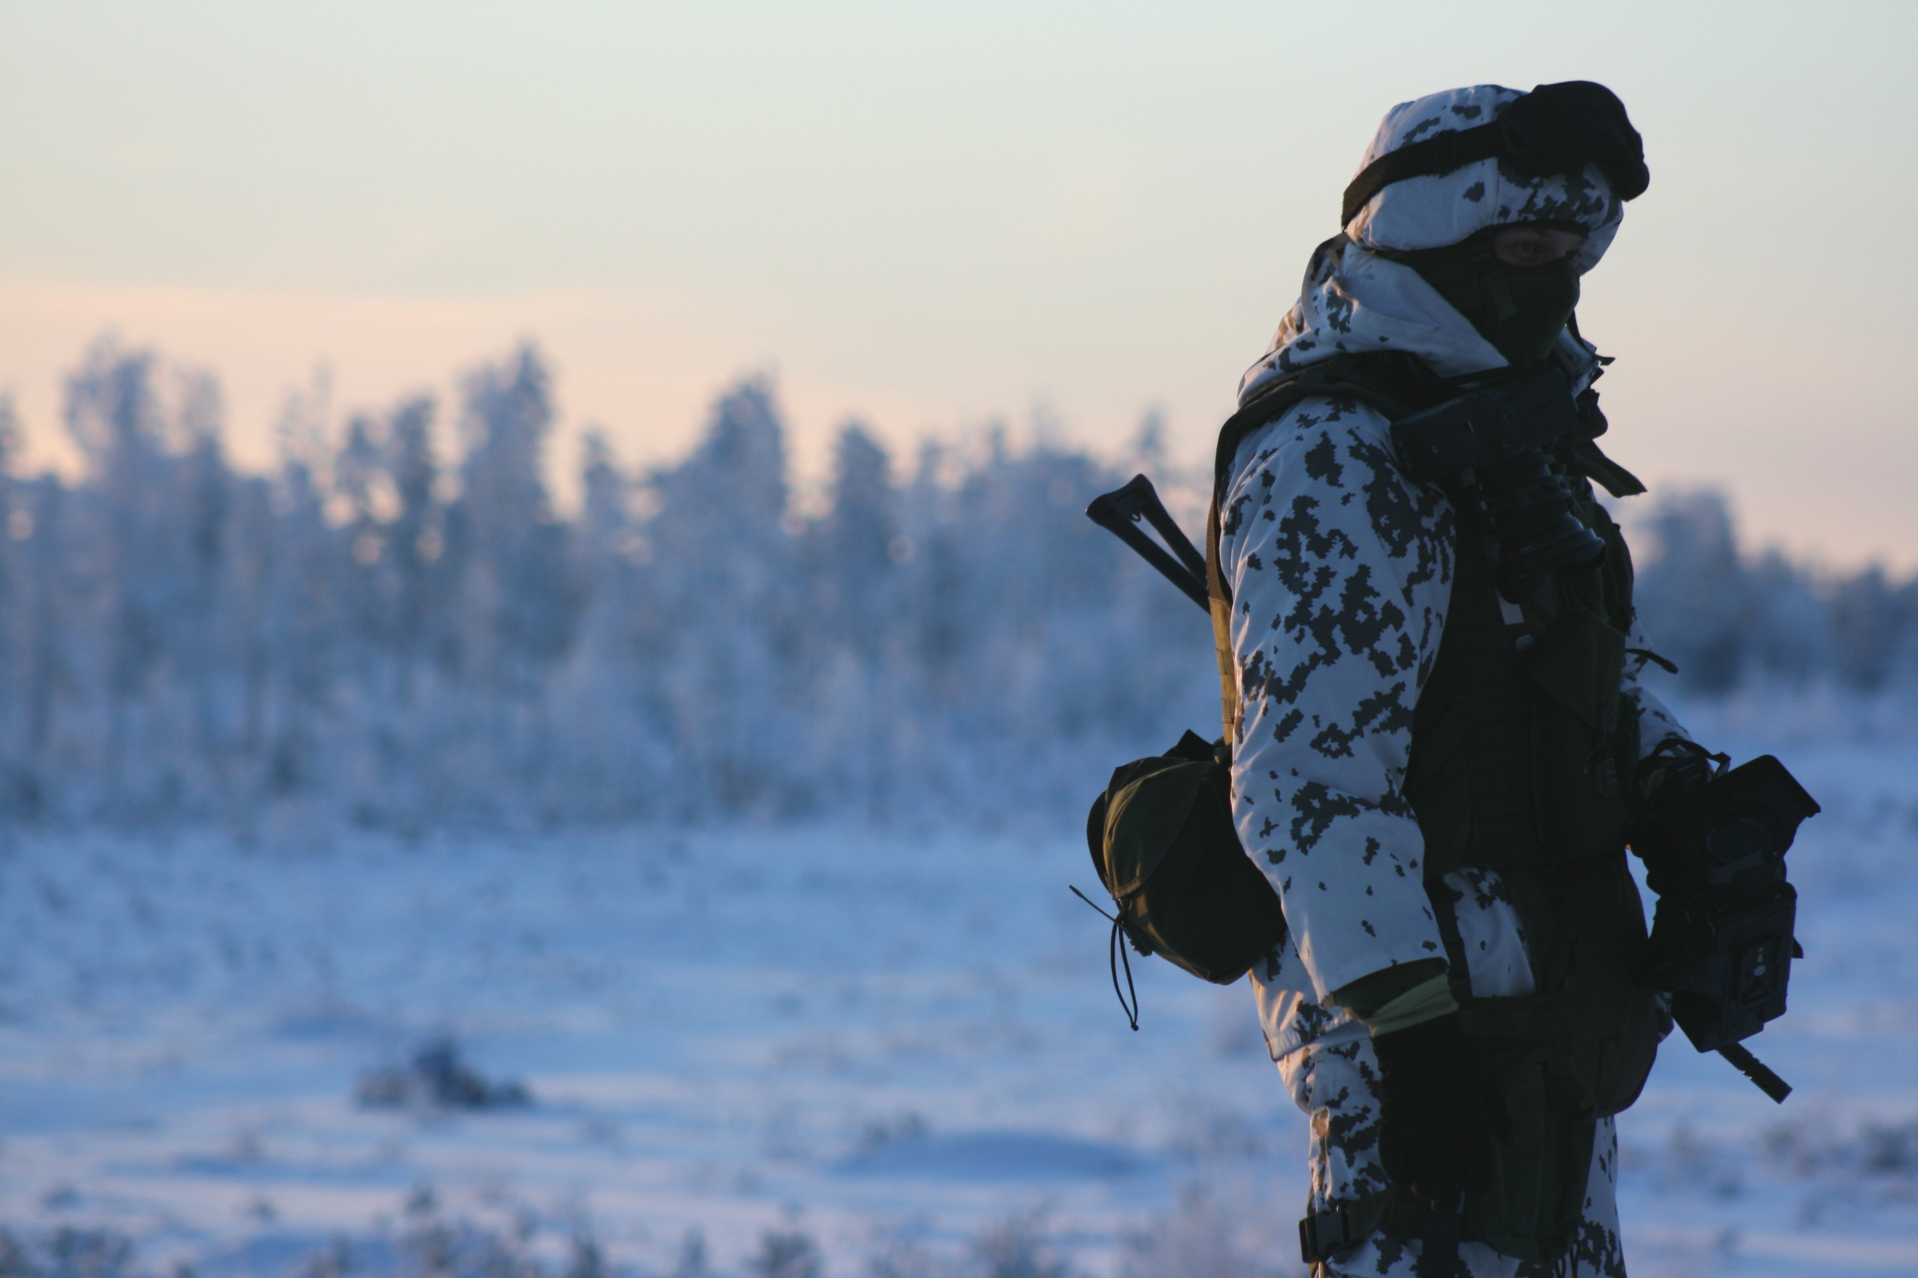
[[1492,1178],[1496,1121],[1485,1065],[1458,1012],[1379,1035],[1379,1161],[1392,1184],[1440,1211]]

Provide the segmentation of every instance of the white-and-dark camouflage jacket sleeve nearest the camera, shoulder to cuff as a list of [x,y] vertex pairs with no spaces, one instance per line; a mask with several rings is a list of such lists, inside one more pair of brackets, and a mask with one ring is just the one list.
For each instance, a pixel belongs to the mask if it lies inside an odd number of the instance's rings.
[[1233,820],[1322,1002],[1444,956],[1404,776],[1452,548],[1450,502],[1400,473],[1364,404],[1304,400],[1239,448],[1220,510]]

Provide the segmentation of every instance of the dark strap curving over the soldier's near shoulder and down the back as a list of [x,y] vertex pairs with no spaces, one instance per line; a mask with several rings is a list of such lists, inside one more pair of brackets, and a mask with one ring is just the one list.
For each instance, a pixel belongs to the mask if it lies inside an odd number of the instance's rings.
[[[1435,389],[1437,387],[1437,389]],[[1226,726],[1226,743],[1239,740],[1239,665],[1231,653],[1231,586],[1218,558],[1218,538],[1226,487],[1231,483],[1231,460],[1245,437],[1281,418],[1289,408],[1308,399],[1358,399],[1391,420],[1398,420],[1427,400],[1444,399],[1442,383],[1425,364],[1402,353],[1341,354],[1318,364],[1306,364],[1268,383],[1218,431],[1212,452],[1212,506],[1205,517],[1205,584],[1212,605],[1212,648],[1218,653],[1218,697]]]

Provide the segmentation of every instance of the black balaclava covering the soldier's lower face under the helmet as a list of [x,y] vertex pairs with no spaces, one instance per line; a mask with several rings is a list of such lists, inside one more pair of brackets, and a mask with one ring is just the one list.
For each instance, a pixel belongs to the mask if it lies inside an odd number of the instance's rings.
[[[1398,249],[1387,257],[1419,272],[1500,354],[1529,364],[1552,353],[1579,305],[1579,266],[1575,255],[1542,266],[1498,261],[1492,238],[1509,226],[1486,226],[1458,243]],[[1584,232],[1582,226],[1569,230]]]

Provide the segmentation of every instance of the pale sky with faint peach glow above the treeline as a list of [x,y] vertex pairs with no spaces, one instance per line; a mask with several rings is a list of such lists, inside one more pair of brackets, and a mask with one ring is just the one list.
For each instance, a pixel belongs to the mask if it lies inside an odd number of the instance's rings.
[[1757,540],[1918,567],[1918,6],[0,0],[0,387],[105,330],[272,456],[535,337],[631,464],[773,368],[802,468],[1026,422],[1197,460],[1379,117],[1594,79],[1651,190],[1586,278],[1607,446]]

